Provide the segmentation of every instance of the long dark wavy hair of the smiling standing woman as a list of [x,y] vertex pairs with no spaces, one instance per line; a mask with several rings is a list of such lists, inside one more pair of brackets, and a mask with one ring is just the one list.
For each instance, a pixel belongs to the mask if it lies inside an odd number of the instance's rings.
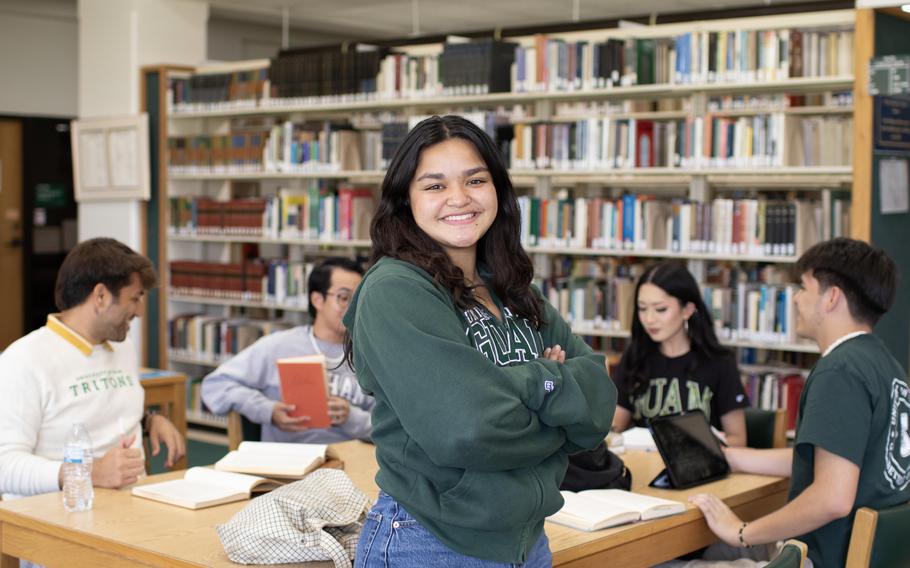
[[[534,265],[521,246],[521,212],[509,172],[493,140],[479,127],[460,116],[432,116],[417,124],[395,151],[382,180],[379,205],[370,225],[373,250],[370,264],[391,257],[426,270],[448,290],[459,308],[477,305],[474,287],[449,259],[445,250],[414,220],[410,204],[411,181],[422,152],[440,142],[460,138],[470,143],[489,170],[496,188],[498,211],[493,224],[477,243],[477,264],[491,273],[491,290],[516,316],[538,329],[544,325],[543,302],[531,289]],[[345,356],[351,360],[351,334],[347,333]]]

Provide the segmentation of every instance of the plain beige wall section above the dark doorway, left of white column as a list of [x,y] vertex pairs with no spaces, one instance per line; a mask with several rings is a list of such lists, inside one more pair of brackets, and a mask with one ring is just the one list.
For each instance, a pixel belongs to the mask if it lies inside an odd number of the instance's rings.
[[0,114],[76,116],[78,37],[73,1],[0,2]]

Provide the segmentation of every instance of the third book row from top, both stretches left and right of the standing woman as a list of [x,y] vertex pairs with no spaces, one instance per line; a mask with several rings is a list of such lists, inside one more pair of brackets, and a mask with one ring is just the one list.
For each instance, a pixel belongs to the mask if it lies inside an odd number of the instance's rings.
[[[566,193],[566,192],[563,192]],[[374,195],[342,186],[336,194],[311,181],[272,197],[216,201],[172,197],[169,232],[186,238],[354,242],[369,239]],[[816,242],[849,234],[849,195],[823,199],[729,199],[701,203],[626,193],[617,198],[520,196],[522,243],[530,252],[661,252],[789,260]]]

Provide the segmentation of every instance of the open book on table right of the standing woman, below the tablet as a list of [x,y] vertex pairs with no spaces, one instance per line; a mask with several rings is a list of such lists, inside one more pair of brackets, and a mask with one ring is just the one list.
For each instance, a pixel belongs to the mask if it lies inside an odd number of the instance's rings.
[[686,510],[686,505],[679,501],[621,489],[589,489],[578,493],[563,491],[562,496],[566,504],[547,520],[583,531],[657,519]]

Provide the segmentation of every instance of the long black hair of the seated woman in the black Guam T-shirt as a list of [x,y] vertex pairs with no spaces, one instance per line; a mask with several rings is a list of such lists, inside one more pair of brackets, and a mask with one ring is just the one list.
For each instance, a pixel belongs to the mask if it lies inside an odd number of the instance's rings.
[[[632,339],[622,359],[622,376],[625,387],[633,398],[644,394],[648,389],[650,377],[649,362],[660,352],[660,344],[651,339],[638,317],[638,292],[643,284],[653,284],[679,301],[684,307],[691,303],[695,311],[689,318],[689,340],[691,350],[696,355],[690,362],[705,361],[713,357],[732,356],[723,347],[714,333],[714,321],[705,306],[701,291],[692,274],[680,263],[663,262],[648,268],[635,285],[632,296]],[[687,369],[687,372],[692,369]]]

